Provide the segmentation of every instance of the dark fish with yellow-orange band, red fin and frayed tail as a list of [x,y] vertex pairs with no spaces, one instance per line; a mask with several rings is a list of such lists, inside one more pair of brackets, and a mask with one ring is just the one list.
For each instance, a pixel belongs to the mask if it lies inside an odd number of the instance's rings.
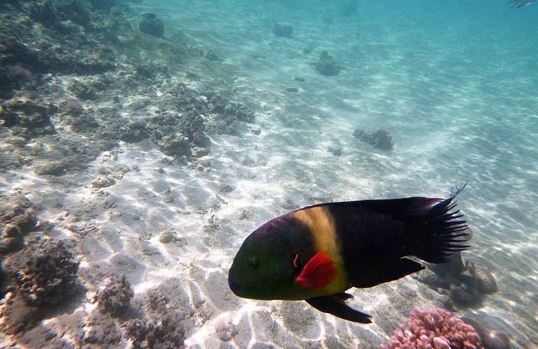
[[326,202],[291,211],[254,230],[228,271],[232,292],[247,299],[305,300],[352,322],[372,316],[345,302],[350,288],[371,288],[449,262],[471,233],[449,198]]

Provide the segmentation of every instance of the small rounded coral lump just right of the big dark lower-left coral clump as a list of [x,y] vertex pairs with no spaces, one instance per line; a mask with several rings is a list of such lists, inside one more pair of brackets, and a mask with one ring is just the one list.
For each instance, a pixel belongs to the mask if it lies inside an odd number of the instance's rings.
[[101,288],[95,297],[97,308],[101,313],[110,313],[112,316],[117,316],[125,311],[134,295],[131,284],[125,275],[122,277],[108,276],[103,281]]

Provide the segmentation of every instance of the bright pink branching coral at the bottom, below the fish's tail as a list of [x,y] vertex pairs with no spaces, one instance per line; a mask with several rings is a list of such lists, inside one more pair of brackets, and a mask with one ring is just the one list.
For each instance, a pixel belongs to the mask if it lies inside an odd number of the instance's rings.
[[440,308],[415,309],[400,329],[394,331],[391,341],[381,349],[451,349],[484,348],[471,325]]

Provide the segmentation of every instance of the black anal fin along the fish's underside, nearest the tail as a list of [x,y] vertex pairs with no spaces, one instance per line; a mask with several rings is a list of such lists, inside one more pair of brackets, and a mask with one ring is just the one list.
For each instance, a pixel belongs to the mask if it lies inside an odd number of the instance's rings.
[[395,281],[409,274],[419,272],[424,269],[424,266],[409,258],[400,258],[395,262],[361,269],[364,270],[363,273],[351,276],[351,285],[358,288],[369,288],[379,285],[379,283]]

